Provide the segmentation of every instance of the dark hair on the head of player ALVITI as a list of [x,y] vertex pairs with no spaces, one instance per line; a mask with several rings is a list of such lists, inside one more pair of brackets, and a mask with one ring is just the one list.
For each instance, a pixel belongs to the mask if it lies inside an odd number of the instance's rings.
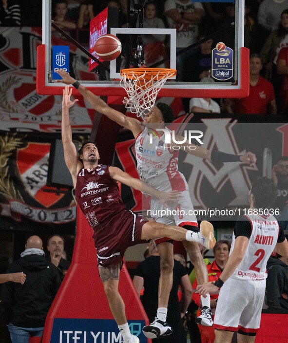
[[277,196],[276,186],[268,177],[257,177],[251,187],[255,209],[268,209]]

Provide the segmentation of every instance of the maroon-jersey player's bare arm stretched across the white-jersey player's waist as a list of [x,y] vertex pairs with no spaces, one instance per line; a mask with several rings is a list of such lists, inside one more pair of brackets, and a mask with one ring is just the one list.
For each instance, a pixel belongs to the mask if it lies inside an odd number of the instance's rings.
[[154,189],[154,187],[148,185],[147,183],[136,179],[127,172],[121,171],[121,169],[116,167],[109,167],[110,177],[117,181],[121,182],[124,185],[134,188],[134,190],[141,191],[142,193],[146,193],[149,195],[154,196],[155,198],[159,199],[161,203],[165,206],[168,206],[169,201],[176,201],[179,198],[178,191],[172,192],[161,192]]

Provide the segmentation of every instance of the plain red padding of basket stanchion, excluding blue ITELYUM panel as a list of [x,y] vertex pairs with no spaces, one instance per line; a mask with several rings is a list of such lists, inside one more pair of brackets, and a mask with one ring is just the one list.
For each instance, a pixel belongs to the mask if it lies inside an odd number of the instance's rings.
[[[113,319],[96,265],[93,230],[77,208],[77,235],[71,267],[48,312],[42,343],[50,343],[54,318]],[[148,318],[134,289],[125,264],[120,273],[119,291],[128,320]]]

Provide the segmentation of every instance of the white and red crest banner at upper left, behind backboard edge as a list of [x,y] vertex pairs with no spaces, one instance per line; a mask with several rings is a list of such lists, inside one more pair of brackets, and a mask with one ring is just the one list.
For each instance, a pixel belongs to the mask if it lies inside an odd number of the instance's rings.
[[[59,38],[53,38],[54,40],[55,44],[68,45],[67,41]],[[36,92],[37,46],[41,41],[39,28],[0,28],[1,130],[60,131],[62,97],[39,95]],[[73,66],[70,71],[72,75],[96,79],[94,73],[88,73],[88,57],[72,45],[70,60]],[[79,100],[71,109],[73,130],[88,133],[91,131],[95,111],[81,96]]]

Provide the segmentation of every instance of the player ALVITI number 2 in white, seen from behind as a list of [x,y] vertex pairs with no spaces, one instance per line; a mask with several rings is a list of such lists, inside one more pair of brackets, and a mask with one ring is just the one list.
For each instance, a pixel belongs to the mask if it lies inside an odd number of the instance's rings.
[[259,177],[253,182],[249,202],[254,214],[238,218],[222,274],[214,285],[197,286],[203,296],[221,288],[214,317],[214,343],[230,343],[235,331],[238,343],[255,342],[265,296],[267,261],[273,250],[288,257],[284,223],[278,223],[272,215],[257,214],[269,213],[275,198],[271,179]]

